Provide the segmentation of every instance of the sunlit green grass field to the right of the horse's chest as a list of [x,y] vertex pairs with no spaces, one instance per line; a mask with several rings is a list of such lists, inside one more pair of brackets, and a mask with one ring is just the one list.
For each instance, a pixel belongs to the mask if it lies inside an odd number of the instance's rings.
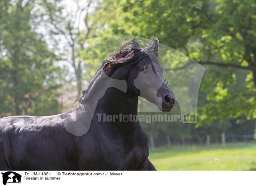
[[256,170],[256,142],[160,147],[149,159],[157,170]]

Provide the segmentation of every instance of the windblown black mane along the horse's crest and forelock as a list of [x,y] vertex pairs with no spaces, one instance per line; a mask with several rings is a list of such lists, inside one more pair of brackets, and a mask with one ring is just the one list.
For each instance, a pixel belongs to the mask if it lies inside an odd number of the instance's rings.
[[[152,38],[151,41],[157,41],[158,50],[158,39]],[[143,42],[143,41],[141,41]],[[136,65],[143,58],[148,58],[148,63],[151,64],[154,73],[154,65],[152,61],[158,62],[158,51],[155,50],[155,42],[152,45],[149,44],[139,44],[135,39],[125,41],[122,46],[120,46],[118,51],[114,51],[112,55],[108,55],[108,59],[102,61],[101,67],[97,70],[93,78],[90,80],[86,89],[82,91],[82,95],[79,97],[79,102],[81,102],[84,94],[90,90],[95,79],[98,77],[99,72],[104,70],[105,74],[111,76],[114,70],[116,70],[120,65],[126,67]]]

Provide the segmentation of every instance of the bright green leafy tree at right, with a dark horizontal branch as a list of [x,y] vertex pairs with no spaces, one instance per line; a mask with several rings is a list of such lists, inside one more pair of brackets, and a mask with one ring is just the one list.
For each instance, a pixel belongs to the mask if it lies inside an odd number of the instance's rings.
[[[207,67],[198,125],[256,118],[254,0],[119,0],[113,33],[157,37]],[[118,17],[118,21],[115,21]],[[169,64],[166,70],[186,67]],[[202,98],[202,97],[201,97]]]

